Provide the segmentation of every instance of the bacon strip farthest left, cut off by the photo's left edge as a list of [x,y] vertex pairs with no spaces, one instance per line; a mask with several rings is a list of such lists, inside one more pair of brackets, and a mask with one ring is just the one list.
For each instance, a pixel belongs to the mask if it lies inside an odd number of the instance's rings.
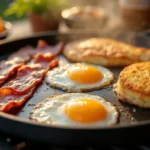
[[0,85],[4,84],[6,80],[27,61],[30,60],[34,50],[27,46],[20,49],[18,52],[12,54],[8,60],[0,62]]

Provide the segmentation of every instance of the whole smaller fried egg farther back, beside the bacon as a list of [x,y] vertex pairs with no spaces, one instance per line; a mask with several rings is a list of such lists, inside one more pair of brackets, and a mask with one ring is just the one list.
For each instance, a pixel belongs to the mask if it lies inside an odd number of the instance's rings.
[[113,73],[107,68],[84,64],[67,64],[49,71],[45,81],[54,88],[67,92],[91,91],[109,85]]

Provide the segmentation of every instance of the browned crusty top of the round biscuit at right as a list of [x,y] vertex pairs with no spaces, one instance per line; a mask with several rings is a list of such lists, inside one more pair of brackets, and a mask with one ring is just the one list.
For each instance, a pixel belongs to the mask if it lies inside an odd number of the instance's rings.
[[130,91],[150,95],[150,62],[136,63],[120,73],[119,83]]

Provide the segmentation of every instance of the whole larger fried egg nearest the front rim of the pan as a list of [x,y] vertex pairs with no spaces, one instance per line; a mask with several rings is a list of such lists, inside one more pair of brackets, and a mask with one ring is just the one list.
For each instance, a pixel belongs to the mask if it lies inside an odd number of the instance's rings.
[[118,116],[117,109],[110,102],[84,93],[48,97],[30,113],[30,119],[40,123],[75,127],[113,125]]

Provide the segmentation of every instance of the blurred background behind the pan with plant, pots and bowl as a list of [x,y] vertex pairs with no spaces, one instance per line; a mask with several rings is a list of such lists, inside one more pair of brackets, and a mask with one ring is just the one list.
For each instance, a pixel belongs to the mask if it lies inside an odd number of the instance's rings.
[[0,0],[0,17],[1,24],[8,21],[5,37],[9,39],[55,30],[95,33],[133,43],[137,34],[149,31],[150,1]]

